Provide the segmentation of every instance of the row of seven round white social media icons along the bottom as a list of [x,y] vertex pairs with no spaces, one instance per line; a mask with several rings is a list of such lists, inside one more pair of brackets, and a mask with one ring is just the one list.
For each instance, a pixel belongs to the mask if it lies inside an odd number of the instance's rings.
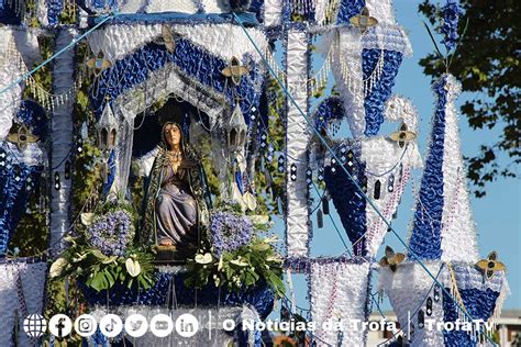
[[[24,320],[23,328],[31,337],[41,337],[46,331],[47,322],[40,314],[32,314]],[[81,337],[89,337],[98,329],[98,322],[90,314],[82,314],[73,322],[65,314],[56,314],[48,322],[48,331],[56,337],[63,338],[73,331]],[[149,325],[145,316],[142,314],[132,314],[123,321],[117,314],[104,315],[99,323],[101,334],[107,337],[115,337],[121,334],[123,326],[128,335],[132,337],[141,337],[149,331],[157,337],[166,337],[171,334],[174,327],[177,334],[182,337],[191,337],[199,331],[198,320],[189,313],[181,314],[177,317],[176,324],[170,316],[166,314],[156,314],[152,317]]]

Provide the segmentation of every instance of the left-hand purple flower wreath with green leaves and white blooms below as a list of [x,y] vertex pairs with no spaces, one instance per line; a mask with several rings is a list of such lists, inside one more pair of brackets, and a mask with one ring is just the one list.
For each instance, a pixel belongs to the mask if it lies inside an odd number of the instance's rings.
[[144,289],[154,283],[152,254],[131,246],[135,228],[130,205],[109,202],[81,221],[85,227],[66,238],[70,247],[51,266],[51,278],[74,276],[97,291],[117,283]]

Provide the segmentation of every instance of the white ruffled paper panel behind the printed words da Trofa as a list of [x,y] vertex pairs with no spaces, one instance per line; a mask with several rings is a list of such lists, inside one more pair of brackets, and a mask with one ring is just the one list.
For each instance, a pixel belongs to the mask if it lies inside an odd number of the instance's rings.
[[[311,321],[317,326],[313,331],[317,346],[365,346],[367,331],[353,327],[352,322],[367,322],[369,317],[369,264],[319,259],[311,264],[310,276]],[[335,324],[341,324],[340,332],[334,328]]]

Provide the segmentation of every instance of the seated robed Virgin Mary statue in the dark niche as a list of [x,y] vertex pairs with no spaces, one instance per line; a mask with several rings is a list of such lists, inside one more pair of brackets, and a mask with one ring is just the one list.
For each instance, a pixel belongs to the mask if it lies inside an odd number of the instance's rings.
[[211,198],[201,159],[181,127],[165,123],[145,184],[141,242],[159,250],[191,254],[206,235]]

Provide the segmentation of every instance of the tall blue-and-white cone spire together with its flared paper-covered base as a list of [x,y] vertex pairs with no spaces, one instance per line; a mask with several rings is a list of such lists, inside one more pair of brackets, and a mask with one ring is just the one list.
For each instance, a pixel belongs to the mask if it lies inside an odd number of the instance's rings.
[[[401,326],[413,331],[409,340],[412,346],[476,346],[486,343],[485,334],[491,336],[494,331],[485,326],[480,331],[428,331],[419,326],[426,318],[429,305],[436,322],[483,320],[491,327],[509,293],[505,271],[496,271],[487,280],[476,267],[476,232],[454,107],[461,86],[453,76],[444,75],[433,90],[437,100],[409,238],[410,261],[399,265],[396,272],[381,268],[380,288],[388,294]],[[437,283],[413,262],[415,259],[425,262]],[[406,317],[404,312],[414,313]]]

